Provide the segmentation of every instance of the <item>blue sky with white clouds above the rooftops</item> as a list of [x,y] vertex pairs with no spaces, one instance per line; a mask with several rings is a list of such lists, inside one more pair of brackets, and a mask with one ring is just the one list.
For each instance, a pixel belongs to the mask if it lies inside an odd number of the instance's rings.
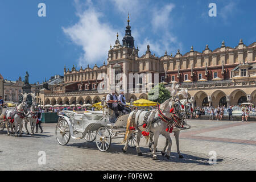
[[[44,3],[46,16],[38,11]],[[209,16],[210,3],[216,15]],[[107,63],[110,44],[122,43],[130,14],[131,35],[142,56],[256,42],[255,0],[1,0],[0,73],[7,80],[31,84],[77,69]]]

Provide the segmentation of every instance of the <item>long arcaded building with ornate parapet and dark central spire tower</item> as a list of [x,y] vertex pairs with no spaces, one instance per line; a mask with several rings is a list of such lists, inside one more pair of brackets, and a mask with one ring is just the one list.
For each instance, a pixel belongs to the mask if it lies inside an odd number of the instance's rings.
[[[131,36],[130,20],[127,21],[125,36],[122,44],[118,35],[115,45],[108,51],[107,64],[97,64],[93,68],[71,70],[64,68],[64,82],[54,86],[53,90],[44,89],[40,92],[40,104],[94,104],[102,97],[106,98],[107,93],[98,93],[98,86],[109,90],[110,85],[118,82],[112,78],[116,74],[129,73],[148,75],[152,77],[139,78],[139,84],[152,82],[167,82],[170,86],[172,81],[180,84],[180,87],[188,89],[194,106],[203,105],[240,105],[242,102],[253,102],[256,104],[256,42],[246,46],[242,39],[238,46],[232,48],[221,43],[219,48],[210,50],[206,45],[203,52],[191,51],[181,55],[177,50],[176,55],[168,55],[163,51],[162,57],[157,57],[147,51],[141,57],[138,56],[139,49],[134,46],[134,38]],[[105,82],[104,75],[110,76]],[[155,77],[157,75],[157,77]],[[135,81],[122,79],[125,89],[129,88],[129,82],[135,88]],[[157,80],[157,81],[156,81]],[[131,98],[148,98],[146,90],[139,89],[139,92],[130,90],[126,93],[126,100]]]

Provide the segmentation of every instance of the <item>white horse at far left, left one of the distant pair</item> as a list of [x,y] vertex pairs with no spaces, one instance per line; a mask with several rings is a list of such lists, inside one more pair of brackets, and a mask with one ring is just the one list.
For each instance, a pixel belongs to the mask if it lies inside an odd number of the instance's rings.
[[7,128],[7,135],[10,135],[9,132],[9,122],[11,123],[11,133],[13,132],[13,125],[15,126],[15,137],[18,137],[17,130],[19,126],[19,136],[22,136],[22,121],[23,118],[26,116],[26,109],[27,109],[27,94],[22,94],[23,102],[20,103],[14,110],[6,110],[4,119],[6,119],[6,128]]

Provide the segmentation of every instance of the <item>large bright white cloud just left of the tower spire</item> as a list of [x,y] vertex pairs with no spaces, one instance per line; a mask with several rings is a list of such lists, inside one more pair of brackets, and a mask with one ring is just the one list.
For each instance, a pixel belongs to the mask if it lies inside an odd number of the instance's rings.
[[[79,7],[79,1],[75,1]],[[73,43],[82,46],[84,55],[80,57],[79,65],[85,66],[92,63],[102,63],[108,57],[110,43],[113,42],[117,30],[109,26],[108,23],[101,22],[103,16],[97,12],[90,1],[86,2],[89,8],[77,10],[79,22],[71,27],[64,28]],[[113,43],[112,43],[113,46]]]

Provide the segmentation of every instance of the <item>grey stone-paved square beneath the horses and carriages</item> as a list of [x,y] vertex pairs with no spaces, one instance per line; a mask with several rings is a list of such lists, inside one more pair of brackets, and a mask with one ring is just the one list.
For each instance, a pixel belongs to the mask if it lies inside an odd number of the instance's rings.
[[[158,152],[159,160],[142,139],[143,156],[133,148],[123,154],[122,139],[113,139],[108,152],[100,152],[96,143],[71,139],[60,146],[55,139],[56,123],[43,124],[45,133],[15,138],[0,131],[0,170],[255,170],[256,122],[188,121],[192,129],[181,131],[180,150],[176,153],[174,134],[171,158]],[[165,139],[159,139],[159,151]],[[46,164],[38,164],[39,151],[46,152]],[[217,154],[217,164],[209,164],[209,152]]]

